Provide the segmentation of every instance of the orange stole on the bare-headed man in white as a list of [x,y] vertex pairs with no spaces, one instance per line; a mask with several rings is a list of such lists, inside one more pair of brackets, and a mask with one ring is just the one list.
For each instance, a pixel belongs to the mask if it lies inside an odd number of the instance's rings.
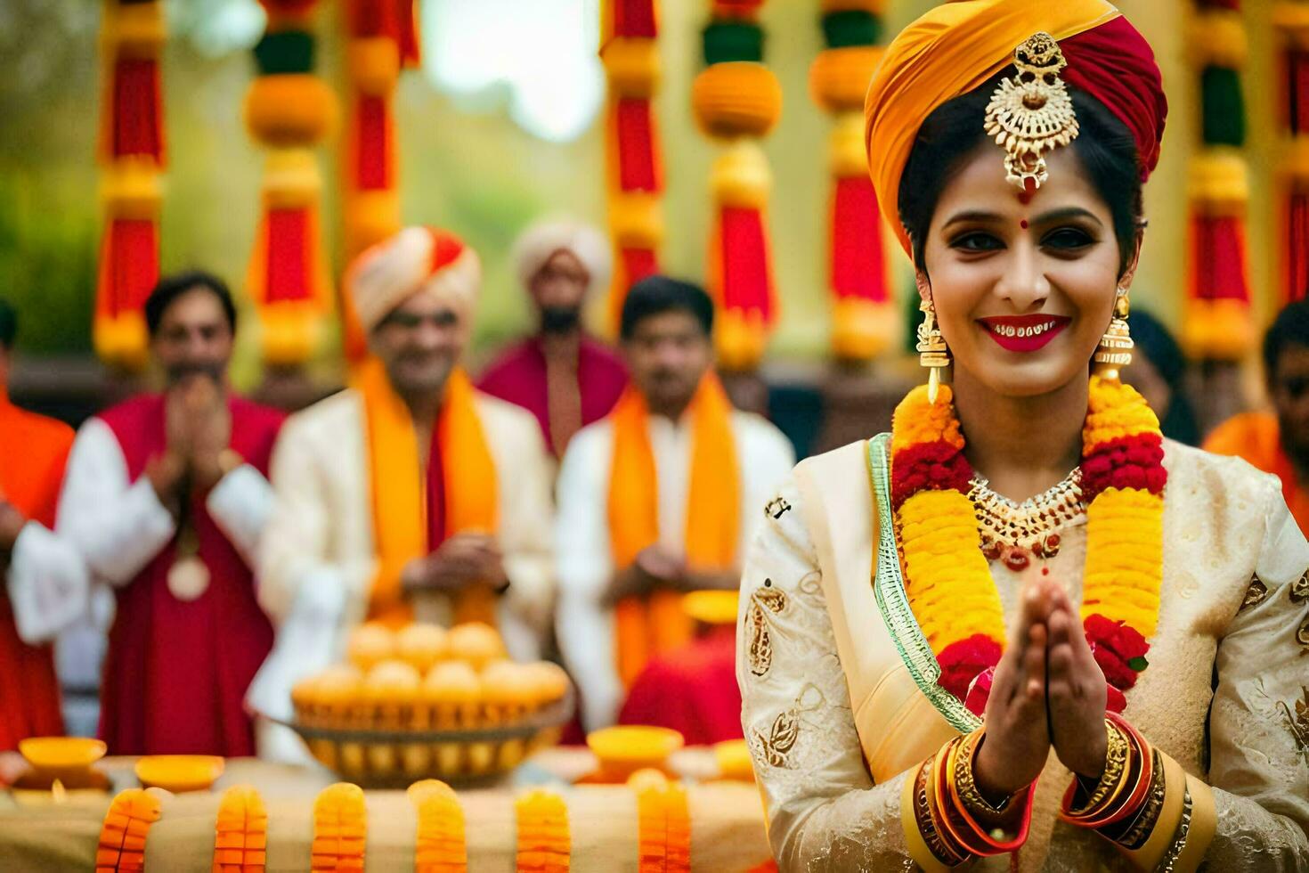
[[[732,433],[732,402],[712,373],[687,410],[691,416],[691,483],[686,508],[686,561],[692,569],[736,564],[741,531],[741,470]],[[628,387],[610,414],[614,457],[609,474],[609,531],[614,565],[626,568],[658,542],[658,478],[651,448],[645,398]],[[656,590],[628,597],[614,609],[618,674],[631,686],[652,654],[691,637],[682,594]]]

